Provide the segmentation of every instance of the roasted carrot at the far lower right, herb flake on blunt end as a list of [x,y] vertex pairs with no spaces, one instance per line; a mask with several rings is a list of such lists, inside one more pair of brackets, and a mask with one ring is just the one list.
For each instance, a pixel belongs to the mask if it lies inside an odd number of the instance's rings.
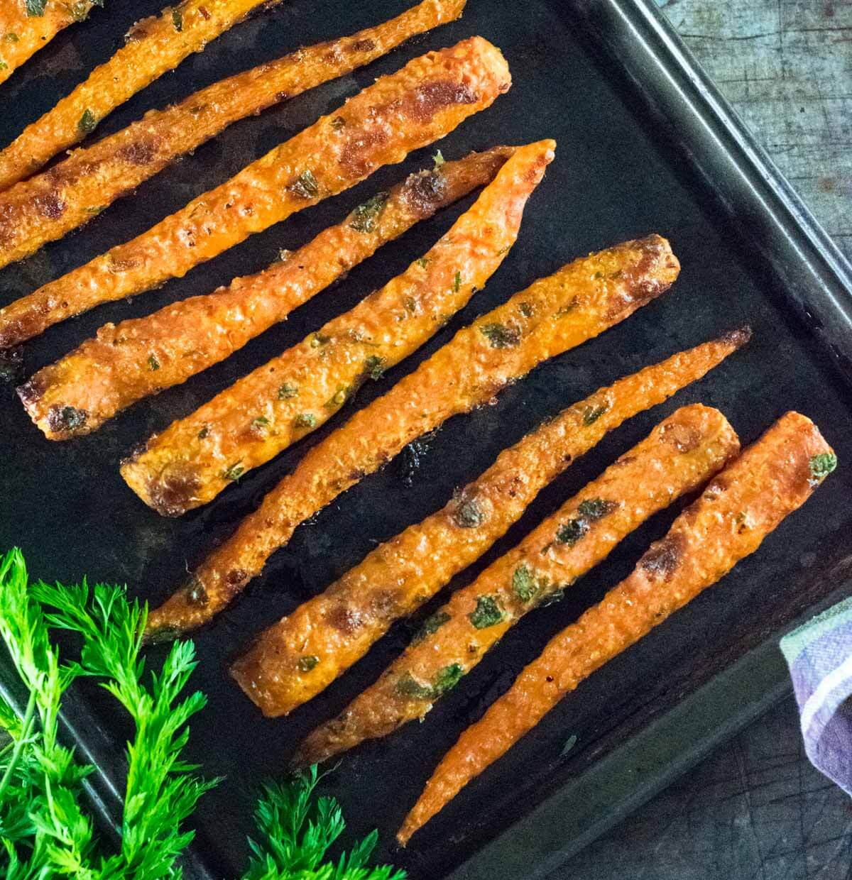
[[834,470],[837,459],[810,419],[788,413],[713,480],[651,545],[633,574],[563,629],[538,659],[459,737],[408,814],[411,835],[531,730],[607,660],[719,581]]

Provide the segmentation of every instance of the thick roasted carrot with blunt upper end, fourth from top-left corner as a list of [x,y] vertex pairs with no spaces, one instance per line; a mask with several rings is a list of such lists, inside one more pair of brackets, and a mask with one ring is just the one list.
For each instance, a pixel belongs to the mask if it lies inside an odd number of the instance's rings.
[[415,58],[147,232],[0,309],[0,348],[186,275],[443,137],[509,85],[503,55],[481,37]]

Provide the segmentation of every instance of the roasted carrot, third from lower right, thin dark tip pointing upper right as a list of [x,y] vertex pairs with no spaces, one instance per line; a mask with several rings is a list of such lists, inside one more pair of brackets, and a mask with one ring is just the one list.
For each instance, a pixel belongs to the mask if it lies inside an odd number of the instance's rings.
[[[264,715],[287,715],[360,659],[393,620],[484,554],[526,506],[621,422],[656,406],[745,344],[748,328],[621,378],[527,434],[443,510],[411,525],[261,634],[231,667]],[[487,513],[486,513],[487,511]],[[443,620],[439,612],[427,629]]]

